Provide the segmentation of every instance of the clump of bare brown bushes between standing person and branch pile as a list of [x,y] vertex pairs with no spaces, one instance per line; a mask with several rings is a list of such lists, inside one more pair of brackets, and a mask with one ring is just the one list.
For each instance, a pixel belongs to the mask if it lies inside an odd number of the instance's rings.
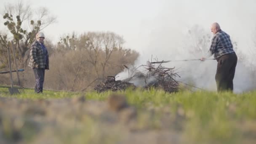
[[[113,32],[87,32],[77,37],[74,33],[61,37],[58,43],[61,53],[52,57],[52,66],[59,88],[70,91],[89,90],[106,75],[116,75],[123,65],[133,64],[139,56],[135,51],[123,48],[123,37]],[[47,75],[48,76],[48,75]],[[71,83],[70,83],[71,82]],[[51,84],[52,85],[52,84]],[[53,85],[54,87],[54,85]]]

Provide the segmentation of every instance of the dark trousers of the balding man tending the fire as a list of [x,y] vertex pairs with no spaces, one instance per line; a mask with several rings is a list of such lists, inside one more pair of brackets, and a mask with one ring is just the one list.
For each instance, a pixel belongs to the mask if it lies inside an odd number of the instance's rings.
[[217,91],[233,91],[233,79],[237,65],[237,55],[229,53],[216,59],[218,61],[215,75]]

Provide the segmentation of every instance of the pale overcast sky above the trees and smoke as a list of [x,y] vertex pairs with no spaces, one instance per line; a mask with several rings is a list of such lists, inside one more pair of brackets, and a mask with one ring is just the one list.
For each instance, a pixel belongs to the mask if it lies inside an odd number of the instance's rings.
[[[0,0],[3,5],[18,0]],[[63,34],[111,31],[122,35],[129,48],[142,51],[162,37],[182,37],[194,24],[209,30],[219,22],[239,39],[255,27],[256,0],[23,0],[32,8],[46,7],[57,23],[43,30],[54,42]],[[3,19],[0,20],[0,22]],[[2,29],[2,25],[0,28]],[[166,31],[166,32],[165,32]],[[180,39],[179,37],[179,39]],[[153,42],[152,42],[153,41]],[[155,41],[155,42],[154,42]],[[243,43],[246,43],[246,40]],[[177,42],[179,43],[179,42]],[[176,45],[175,45],[176,46]],[[168,45],[164,45],[169,48]]]

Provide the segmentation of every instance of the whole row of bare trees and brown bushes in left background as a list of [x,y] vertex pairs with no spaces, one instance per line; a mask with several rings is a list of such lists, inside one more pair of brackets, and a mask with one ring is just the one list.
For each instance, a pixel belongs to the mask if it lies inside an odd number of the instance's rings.
[[[0,33],[0,71],[8,70],[7,48],[16,49],[24,87],[33,87],[35,77],[28,67],[29,48],[37,32],[56,21],[47,8],[33,11],[22,2],[5,5],[3,25],[7,32]],[[27,24],[27,25],[26,25]],[[58,43],[45,39],[50,70],[45,74],[45,88],[65,91],[88,91],[104,77],[115,76],[124,66],[134,64],[139,53],[124,47],[125,40],[114,32],[84,32],[60,37]],[[13,58],[12,58],[13,59]],[[0,84],[9,84],[9,75],[0,75]],[[15,79],[14,83],[17,83]]]

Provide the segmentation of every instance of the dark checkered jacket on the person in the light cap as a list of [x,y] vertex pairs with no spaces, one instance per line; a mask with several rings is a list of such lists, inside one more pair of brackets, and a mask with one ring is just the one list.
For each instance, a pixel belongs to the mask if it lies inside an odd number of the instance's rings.
[[43,59],[43,49],[41,47],[41,44],[37,40],[34,43],[32,43],[30,47],[29,57],[29,67],[49,69],[48,56],[45,62]]

